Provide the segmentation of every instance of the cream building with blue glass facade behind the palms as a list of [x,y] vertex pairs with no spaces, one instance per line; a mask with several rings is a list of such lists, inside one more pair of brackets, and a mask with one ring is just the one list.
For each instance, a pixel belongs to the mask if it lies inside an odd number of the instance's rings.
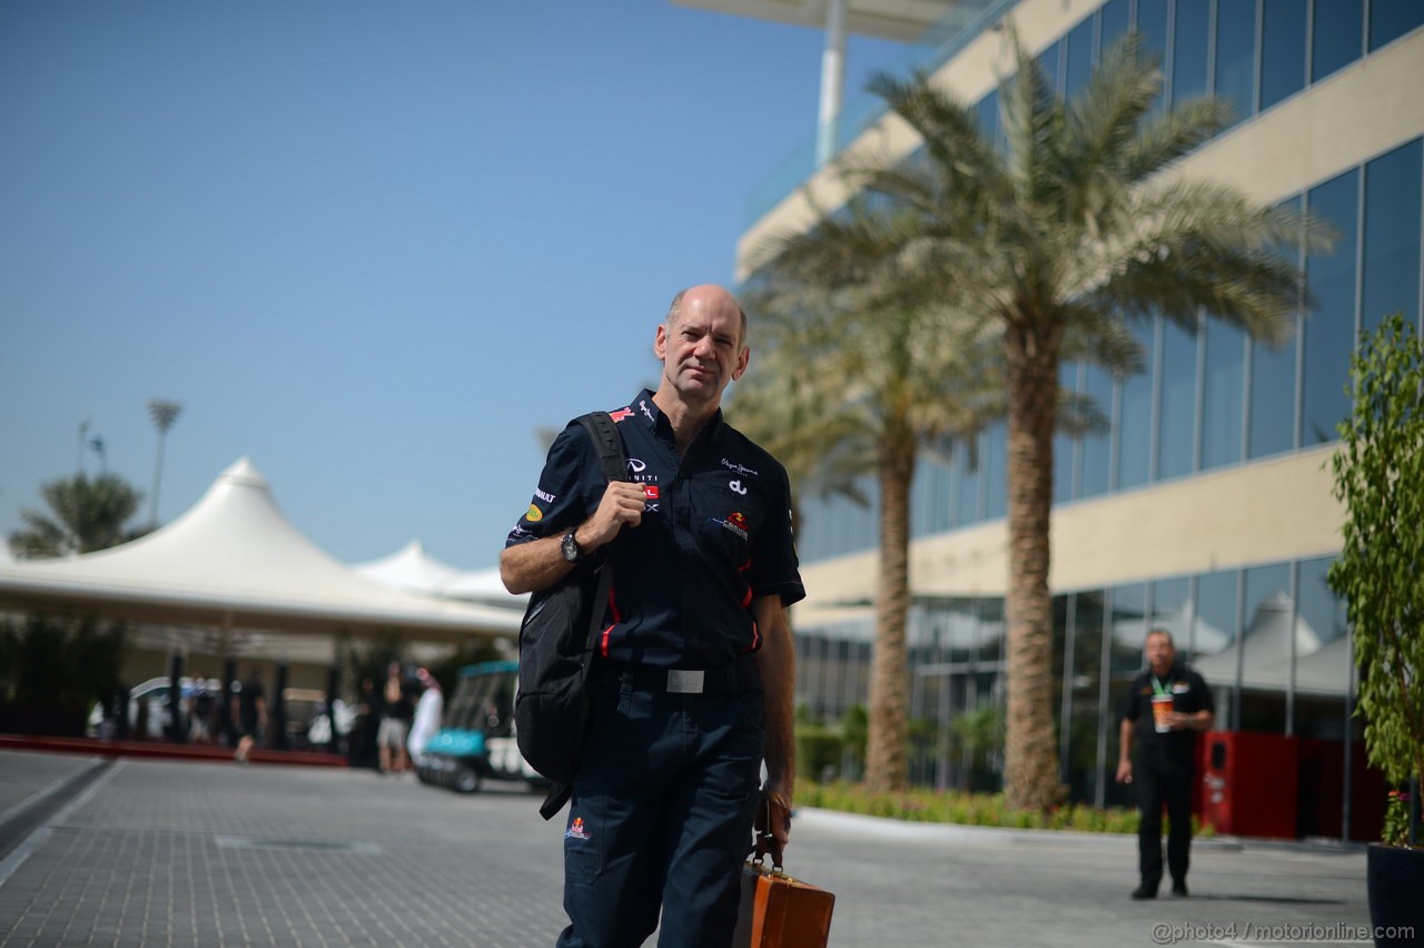
[[[1424,108],[1415,100],[1424,3],[987,4],[948,40],[934,81],[977,102],[990,135],[995,70],[1007,61],[994,27],[1005,16],[1065,95],[1136,28],[1162,61],[1161,107],[1208,93],[1235,107],[1230,127],[1180,171],[1307,209],[1337,235],[1333,252],[1299,259],[1309,306],[1279,347],[1203,312],[1195,332],[1163,319],[1136,323],[1139,374],[1062,366],[1062,387],[1109,421],[1055,438],[1052,660],[1064,781],[1074,799],[1121,801],[1118,709],[1153,626],[1171,629],[1213,686],[1219,729],[1358,740],[1343,604],[1324,582],[1341,520],[1327,467],[1360,332],[1396,310],[1418,326],[1424,312]],[[870,124],[864,134],[880,132]],[[913,148],[904,144],[899,157]],[[815,192],[827,178],[806,169],[797,184]],[[787,191],[748,226],[743,276],[755,272],[762,233],[806,219],[805,199]],[[998,424],[975,444],[926,457],[916,474],[907,673],[911,715],[923,722],[913,776],[923,783],[973,783],[946,726],[1002,699],[1005,468]],[[866,494],[874,497],[873,485]],[[836,719],[867,697],[879,512],[816,497],[800,505],[810,598],[793,613],[797,700]],[[1347,783],[1343,773],[1321,779]],[[1300,830],[1327,834],[1304,816]]]

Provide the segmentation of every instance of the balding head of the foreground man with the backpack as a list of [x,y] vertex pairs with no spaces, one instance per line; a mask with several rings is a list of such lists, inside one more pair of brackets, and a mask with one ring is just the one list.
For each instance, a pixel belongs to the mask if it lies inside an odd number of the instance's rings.
[[652,346],[665,384],[689,401],[718,400],[748,363],[742,313],[729,296],[688,296],[669,326],[658,326]]

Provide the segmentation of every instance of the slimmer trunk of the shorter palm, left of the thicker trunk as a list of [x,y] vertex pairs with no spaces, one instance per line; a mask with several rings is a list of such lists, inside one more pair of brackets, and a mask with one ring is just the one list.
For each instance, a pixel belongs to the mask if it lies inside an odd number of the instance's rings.
[[866,789],[904,790],[910,779],[909,669],[904,626],[910,611],[910,487],[917,446],[887,440],[880,457],[880,576],[876,645],[870,659],[870,733]]

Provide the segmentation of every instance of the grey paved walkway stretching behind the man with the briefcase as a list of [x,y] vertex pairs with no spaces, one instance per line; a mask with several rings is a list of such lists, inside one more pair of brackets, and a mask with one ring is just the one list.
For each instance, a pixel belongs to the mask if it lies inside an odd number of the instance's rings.
[[[553,945],[562,824],[315,767],[0,752],[0,945]],[[1357,848],[1199,841],[1192,898],[1134,902],[1132,838],[803,811],[787,871],[832,945],[1346,945]],[[1290,928],[1294,927],[1294,928]]]

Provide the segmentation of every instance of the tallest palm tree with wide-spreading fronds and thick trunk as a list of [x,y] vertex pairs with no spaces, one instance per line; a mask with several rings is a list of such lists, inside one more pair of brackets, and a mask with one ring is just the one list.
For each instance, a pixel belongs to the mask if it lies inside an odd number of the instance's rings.
[[[1001,147],[970,105],[926,77],[873,80],[871,91],[918,134],[923,151],[894,167],[843,164],[839,172],[913,216],[899,241],[857,243],[822,221],[778,249],[830,263],[802,276],[832,289],[854,285],[880,260],[900,260],[907,275],[903,262],[920,260],[916,295],[937,285],[953,302],[941,312],[997,340],[1008,407],[1004,781],[1008,806],[1047,809],[1062,796],[1054,722],[1042,713],[1052,695],[1048,524],[1052,436],[1065,401],[1059,363],[1141,359],[1128,322],[1153,315],[1195,332],[1205,312],[1277,343],[1302,302],[1300,273],[1279,248],[1329,241],[1289,209],[1163,174],[1223,127],[1229,107],[1205,97],[1153,111],[1162,77],[1136,37],[1111,50],[1067,102],[1012,31],[1011,40],[1017,73],[1000,87]],[[866,255],[873,259],[859,268],[843,265]]]

